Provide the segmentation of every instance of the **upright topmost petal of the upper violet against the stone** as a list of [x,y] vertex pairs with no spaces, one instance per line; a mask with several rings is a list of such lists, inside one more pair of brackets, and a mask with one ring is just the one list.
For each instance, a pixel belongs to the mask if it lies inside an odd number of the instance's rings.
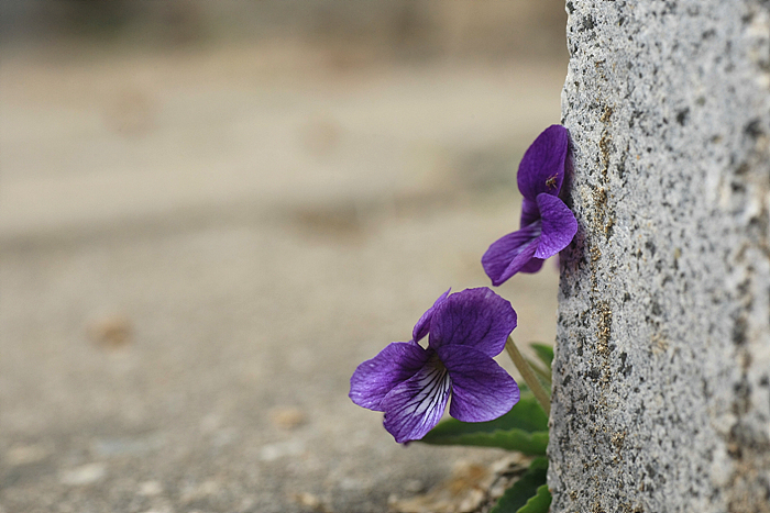
[[521,196],[535,200],[540,193],[559,194],[564,180],[569,135],[561,125],[551,125],[527,148],[516,180]]

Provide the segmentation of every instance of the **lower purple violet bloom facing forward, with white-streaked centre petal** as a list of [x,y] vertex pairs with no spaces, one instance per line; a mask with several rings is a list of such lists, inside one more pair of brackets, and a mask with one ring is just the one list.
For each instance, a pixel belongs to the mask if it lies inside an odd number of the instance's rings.
[[[488,288],[441,294],[420,317],[409,342],[394,342],[355,369],[350,399],[385,412],[396,442],[422,438],[449,414],[463,422],[492,421],[519,400],[519,388],[493,359],[516,327],[510,303]],[[430,334],[428,347],[417,342]]]

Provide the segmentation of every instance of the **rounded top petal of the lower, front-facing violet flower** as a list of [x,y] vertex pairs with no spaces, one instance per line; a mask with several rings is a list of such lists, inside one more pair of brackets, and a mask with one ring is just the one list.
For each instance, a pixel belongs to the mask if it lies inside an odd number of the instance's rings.
[[498,355],[516,327],[510,303],[486,287],[450,295],[436,309],[430,323],[429,347],[462,345]]

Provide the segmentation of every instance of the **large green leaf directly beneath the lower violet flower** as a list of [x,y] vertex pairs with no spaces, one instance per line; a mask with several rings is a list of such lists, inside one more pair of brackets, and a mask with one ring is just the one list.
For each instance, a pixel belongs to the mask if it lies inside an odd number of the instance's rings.
[[448,419],[420,442],[431,445],[472,445],[546,454],[548,417],[531,392],[522,391],[518,403],[505,415],[490,422],[461,422]]

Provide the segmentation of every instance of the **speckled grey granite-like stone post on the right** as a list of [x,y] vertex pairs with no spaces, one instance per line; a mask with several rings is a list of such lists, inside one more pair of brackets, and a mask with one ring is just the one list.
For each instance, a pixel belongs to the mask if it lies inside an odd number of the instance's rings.
[[554,512],[770,511],[770,5],[566,3]]

